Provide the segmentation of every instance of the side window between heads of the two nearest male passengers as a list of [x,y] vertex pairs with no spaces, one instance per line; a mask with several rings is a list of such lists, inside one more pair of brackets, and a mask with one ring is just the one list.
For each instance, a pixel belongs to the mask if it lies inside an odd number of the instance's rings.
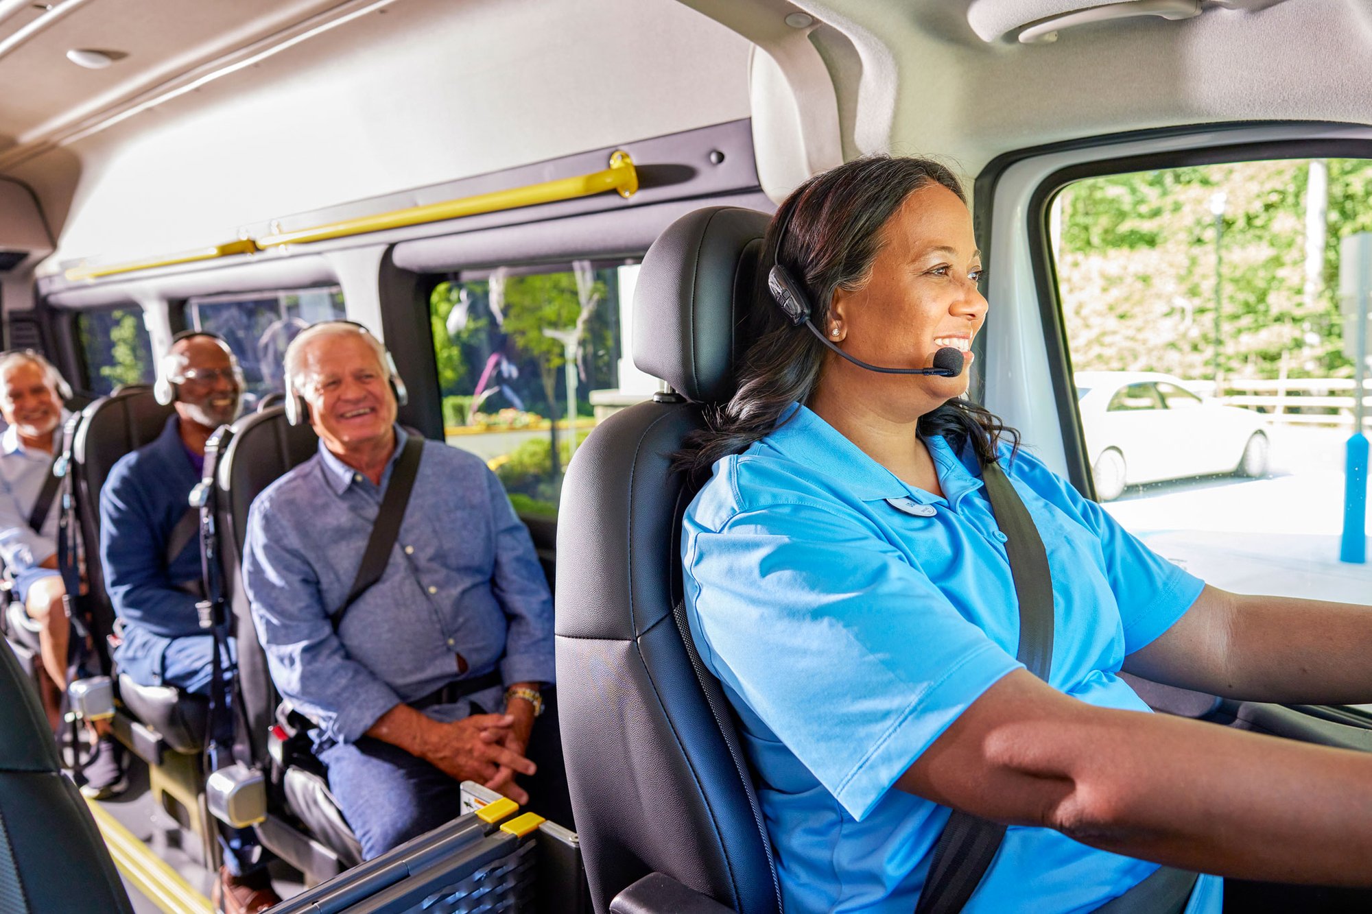
[[295,335],[310,324],[347,317],[338,285],[191,298],[187,325],[218,333],[243,365],[243,405],[284,391],[283,358]]

